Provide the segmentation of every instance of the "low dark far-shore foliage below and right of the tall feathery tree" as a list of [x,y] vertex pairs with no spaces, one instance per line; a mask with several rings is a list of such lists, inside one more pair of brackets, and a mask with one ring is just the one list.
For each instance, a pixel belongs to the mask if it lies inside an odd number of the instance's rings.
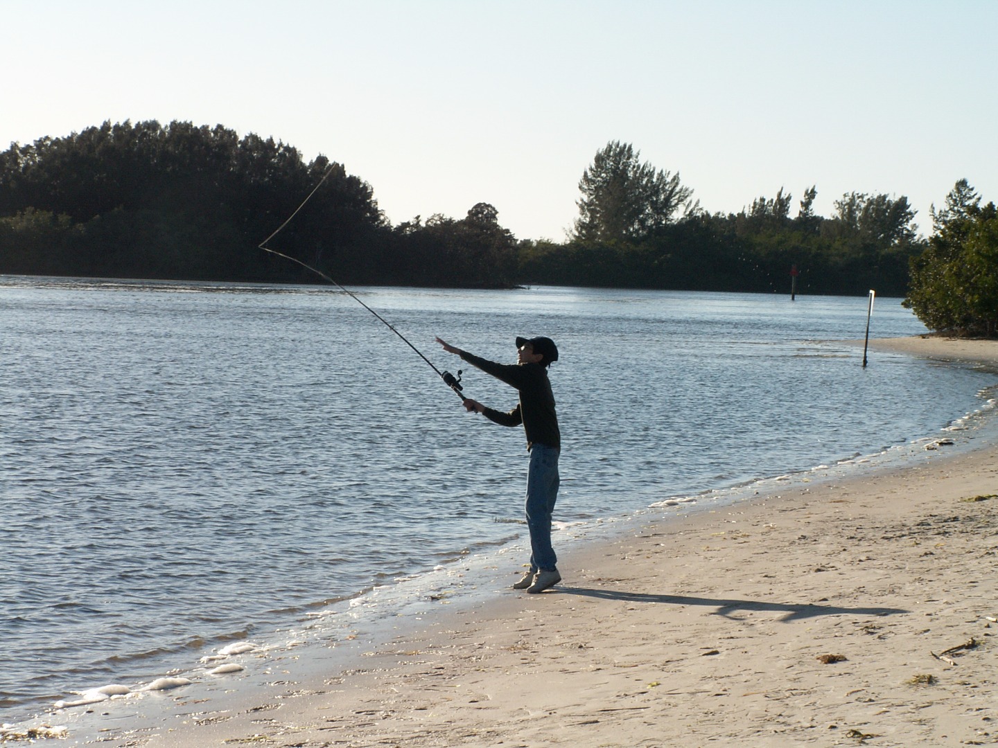
[[[529,283],[789,293],[790,270],[796,265],[798,293],[865,295],[873,288],[882,295],[903,296],[908,260],[923,246],[914,235],[907,198],[845,195],[843,201],[857,208],[849,223],[838,215],[815,215],[810,209],[815,195],[814,187],[805,190],[795,218],[789,217],[792,195],[780,189],[773,198],[755,198],[739,213],[691,211],[641,240],[521,242],[520,278]],[[866,203],[872,207],[864,212]]]

